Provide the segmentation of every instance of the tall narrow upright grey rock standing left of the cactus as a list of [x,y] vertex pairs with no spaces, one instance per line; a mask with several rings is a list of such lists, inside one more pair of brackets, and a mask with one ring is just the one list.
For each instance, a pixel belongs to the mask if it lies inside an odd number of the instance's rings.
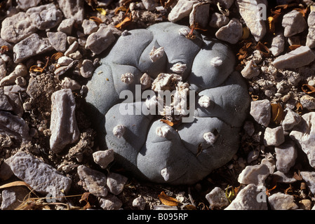
[[51,96],[51,139],[54,153],[60,153],[65,146],[79,140],[80,132],[76,125],[76,102],[72,90],[63,89]]

